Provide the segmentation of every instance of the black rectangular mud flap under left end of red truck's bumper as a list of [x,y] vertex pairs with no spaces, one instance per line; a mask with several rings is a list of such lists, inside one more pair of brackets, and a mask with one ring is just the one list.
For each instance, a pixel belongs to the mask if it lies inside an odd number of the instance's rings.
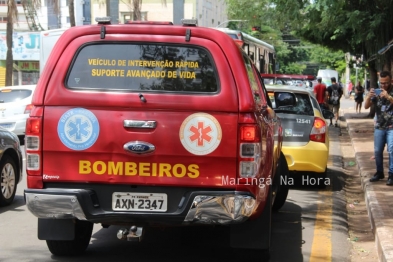
[[72,219],[38,219],[38,239],[73,240],[75,222]]

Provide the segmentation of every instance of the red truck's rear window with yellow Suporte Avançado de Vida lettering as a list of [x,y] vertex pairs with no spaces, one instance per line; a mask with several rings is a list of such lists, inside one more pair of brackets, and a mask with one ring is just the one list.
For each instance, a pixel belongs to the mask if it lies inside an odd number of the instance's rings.
[[70,89],[216,93],[218,76],[201,47],[97,43],[81,47],[69,69]]

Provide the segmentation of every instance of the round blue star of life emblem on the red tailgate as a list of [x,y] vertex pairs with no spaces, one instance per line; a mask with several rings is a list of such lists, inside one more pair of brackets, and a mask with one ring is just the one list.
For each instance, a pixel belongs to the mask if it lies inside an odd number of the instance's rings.
[[99,132],[97,117],[84,108],[66,111],[57,125],[57,133],[61,142],[73,150],[90,148],[96,142]]

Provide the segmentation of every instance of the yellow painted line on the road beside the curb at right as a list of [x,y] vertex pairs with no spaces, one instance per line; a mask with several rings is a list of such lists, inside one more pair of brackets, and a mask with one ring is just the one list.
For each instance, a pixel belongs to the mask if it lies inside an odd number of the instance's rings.
[[318,196],[323,201],[318,203],[315,216],[310,262],[332,261],[332,191],[319,191]]

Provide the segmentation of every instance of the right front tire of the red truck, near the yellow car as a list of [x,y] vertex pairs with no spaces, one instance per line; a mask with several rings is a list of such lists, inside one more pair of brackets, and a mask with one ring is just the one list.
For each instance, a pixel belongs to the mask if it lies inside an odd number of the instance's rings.
[[281,178],[287,178],[289,176],[287,160],[285,159],[283,153],[281,153],[279,161],[280,163],[276,171],[276,177],[280,178],[280,181],[275,181],[276,183],[278,183],[277,185],[278,189],[272,207],[274,211],[277,211],[280,208],[282,208],[282,206],[285,204],[285,201],[287,200],[288,191],[289,191],[289,185],[281,183],[282,181],[286,181],[286,179],[282,180]]

